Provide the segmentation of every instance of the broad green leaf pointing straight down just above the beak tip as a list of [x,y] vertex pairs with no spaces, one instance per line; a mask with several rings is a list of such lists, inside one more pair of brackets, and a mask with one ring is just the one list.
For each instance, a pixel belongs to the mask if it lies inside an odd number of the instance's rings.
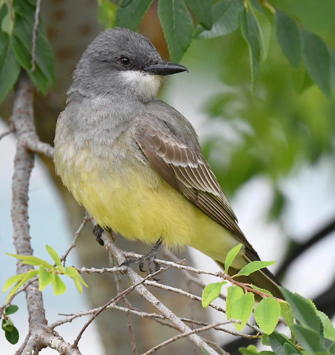
[[179,63],[192,40],[192,16],[184,0],[158,0],[158,17],[163,27],[171,60]]

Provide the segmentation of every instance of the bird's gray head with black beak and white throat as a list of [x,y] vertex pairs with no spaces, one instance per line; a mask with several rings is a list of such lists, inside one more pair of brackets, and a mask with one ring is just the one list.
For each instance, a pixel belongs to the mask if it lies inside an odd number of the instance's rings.
[[163,61],[143,35],[126,28],[110,28],[85,50],[68,95],[69,99],[72,95],[112,95],[147,102],[156,97],[162,76],[182,71],[187,69]]

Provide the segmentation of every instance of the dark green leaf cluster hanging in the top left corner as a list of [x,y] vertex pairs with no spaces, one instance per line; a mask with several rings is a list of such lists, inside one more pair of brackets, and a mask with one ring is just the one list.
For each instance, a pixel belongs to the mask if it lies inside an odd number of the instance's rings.
[[55,86],[54,56],[43,21],[38,13],[36,21],[35,12],[36,0],[0,1],[0,103],[21,69],[43,94],[49,85]]

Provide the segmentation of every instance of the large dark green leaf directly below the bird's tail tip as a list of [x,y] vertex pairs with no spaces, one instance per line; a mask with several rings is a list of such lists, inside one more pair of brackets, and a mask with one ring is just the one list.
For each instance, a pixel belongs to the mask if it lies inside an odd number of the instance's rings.
[[296,320],[304,326],[320,333],[322,331],[322,323],[318,317],[314,304],[297,293],[292,293],[284,287],[281,287],[280,289],[292,310],[292,315],[296,318]]

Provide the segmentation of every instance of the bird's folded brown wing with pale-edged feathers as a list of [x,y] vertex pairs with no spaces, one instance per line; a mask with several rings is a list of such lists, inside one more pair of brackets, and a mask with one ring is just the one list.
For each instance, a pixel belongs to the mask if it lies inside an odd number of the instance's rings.
[[200,149],[192,149],[172,133],[158,132],[142,120],[135,123],[135,140],[158,174],[246,246],[252,260],[259,256],[237,225],[236,216]]

